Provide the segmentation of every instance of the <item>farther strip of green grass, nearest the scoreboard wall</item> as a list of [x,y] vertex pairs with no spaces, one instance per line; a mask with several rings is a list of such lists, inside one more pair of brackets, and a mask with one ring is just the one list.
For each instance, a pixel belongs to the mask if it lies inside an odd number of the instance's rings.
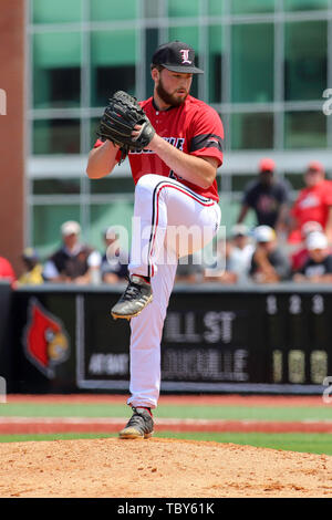
[[[129,407],[107,404],[1,404],[1,417],[128,417]],[[159,418],[228,420],[332,420],[332,407],[160,406]]]

